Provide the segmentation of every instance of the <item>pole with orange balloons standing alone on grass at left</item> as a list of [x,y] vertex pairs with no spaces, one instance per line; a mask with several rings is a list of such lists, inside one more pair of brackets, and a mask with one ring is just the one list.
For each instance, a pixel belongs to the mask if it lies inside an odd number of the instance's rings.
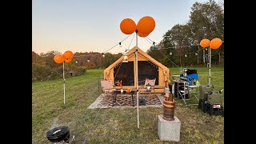
[[63,64],[63,88],[64,88],[64,105],[65,105],[65,70],[64,70],[64,63],[65,62],[71,62],[74,54],[67,50],[63,55],[62,54],[56,54],[54,56],[54,62],[56,63],[62,63]]

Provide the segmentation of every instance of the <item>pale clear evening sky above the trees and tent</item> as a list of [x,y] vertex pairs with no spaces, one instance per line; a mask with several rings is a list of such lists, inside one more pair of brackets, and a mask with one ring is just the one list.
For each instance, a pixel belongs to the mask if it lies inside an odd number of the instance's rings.
[[208,0],[32,0],[32,51],[124,54],[136,46],[136,36],[122,33],[122,20],[137,24],[150,16],[154,30],[147,38],[138,37],[138,48],[146,52],[175,24],[188,22],[194,2]]

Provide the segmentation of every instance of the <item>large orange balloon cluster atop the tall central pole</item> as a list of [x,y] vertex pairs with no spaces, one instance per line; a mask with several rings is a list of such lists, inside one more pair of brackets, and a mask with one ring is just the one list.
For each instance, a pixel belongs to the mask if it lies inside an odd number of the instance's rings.
[[138,36],[146,37],[148,36],[155,27],[154,18],[150,16],[145,16],[138,21],[136,26],[135,22],[130,18],[125,18],[120,23],[120,29],[124,34],[133,34],[135,30],[138,31]]

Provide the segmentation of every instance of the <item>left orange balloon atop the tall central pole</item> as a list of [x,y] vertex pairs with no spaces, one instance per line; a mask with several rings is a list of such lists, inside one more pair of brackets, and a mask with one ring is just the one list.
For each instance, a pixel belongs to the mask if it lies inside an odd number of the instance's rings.
[[136,30],[136,23],[130,18],[125,18],[120,23],[120,29],[123,34],[133,34]]

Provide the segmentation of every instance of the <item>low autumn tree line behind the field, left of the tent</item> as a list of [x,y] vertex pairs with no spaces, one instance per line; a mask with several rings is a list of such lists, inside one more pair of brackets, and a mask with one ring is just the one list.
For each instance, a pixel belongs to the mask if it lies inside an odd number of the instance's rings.
[[[54,62],[55,54],[61,54],[56,50],[46,54],[37,54],[32,51],[32,82],[44,81],[54,78],[62,78],[63,65]],[[85,74],[86,70],[104,69],[122,56],[119,54],[101,54],[98,52],[74,53],[71,62],[64,62],[65,77]]]

